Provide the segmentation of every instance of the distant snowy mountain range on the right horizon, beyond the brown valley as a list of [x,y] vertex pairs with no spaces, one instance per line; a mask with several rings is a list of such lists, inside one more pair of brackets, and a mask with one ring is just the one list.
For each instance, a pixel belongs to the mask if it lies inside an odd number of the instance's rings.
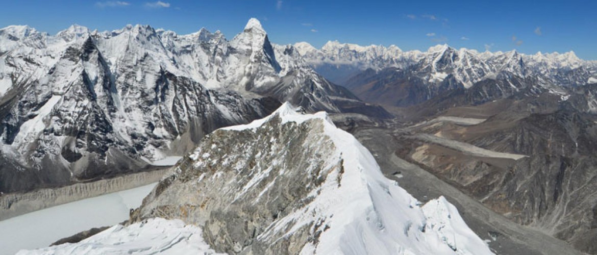
[[[319,50],[306,42],[299,42],[295,47],[318,72],[332,78],[337,78],[336,73],[346,70],[352,70],[349,74],[355,75],[358,70],[379,71],[387,67],[416,70],[417,76],[429,83],[441,82],[448,75],[453,75],[464,87],[493,78],[501,72],[522,77],[541,75],[563,86],[585,85],[591,83],[590,80],[596,81],[597,76],[597,64],[578,59],[573,51],[534,55],[515,50],[479,53],[466,48],[456,50],[448,45],[436,45],[421,52],[401,51],[395,45],[387,48],[380,45],[362,47],[338,42],[328,42]],[[346,80],[344,73],[343,81]]]

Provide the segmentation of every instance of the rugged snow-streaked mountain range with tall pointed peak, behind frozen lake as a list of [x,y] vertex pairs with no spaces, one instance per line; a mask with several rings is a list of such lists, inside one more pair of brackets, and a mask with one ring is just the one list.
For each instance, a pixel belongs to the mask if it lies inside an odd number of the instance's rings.
[[265,116],[279,101],[389,116],[315,73],[294,47],[270,44],[256,19],[232,41],[206,29],[73,25],[48,35],[5,27],[0,191],[138,171],[216,128]]

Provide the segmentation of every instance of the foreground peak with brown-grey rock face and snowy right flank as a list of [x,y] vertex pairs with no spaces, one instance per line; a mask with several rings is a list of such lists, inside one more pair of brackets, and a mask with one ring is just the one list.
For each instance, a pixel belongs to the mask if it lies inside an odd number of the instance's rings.
[[491,254],[443,197],[422,205],[326,113],[301,111],[209,134],[131,220],[183,220],[229,254]]

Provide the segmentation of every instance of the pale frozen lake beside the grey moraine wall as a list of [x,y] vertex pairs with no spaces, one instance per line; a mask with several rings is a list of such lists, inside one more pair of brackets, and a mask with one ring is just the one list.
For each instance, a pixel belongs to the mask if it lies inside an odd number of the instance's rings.
[[45,208],[0,222],[0,254],[47,247],[61,238],[128,219],[156,183]]

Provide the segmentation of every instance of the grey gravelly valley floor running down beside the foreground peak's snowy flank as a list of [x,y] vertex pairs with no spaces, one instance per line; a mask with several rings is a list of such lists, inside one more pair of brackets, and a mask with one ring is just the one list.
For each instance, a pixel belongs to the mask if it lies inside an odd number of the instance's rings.
[[381,171],[421,202],[445,196],[461,216],[497,254],[581,254],[566,242],[495,213],[433,174],[395,155],[391,131],[378,127],[357,127],[351,133],[376,157]]

